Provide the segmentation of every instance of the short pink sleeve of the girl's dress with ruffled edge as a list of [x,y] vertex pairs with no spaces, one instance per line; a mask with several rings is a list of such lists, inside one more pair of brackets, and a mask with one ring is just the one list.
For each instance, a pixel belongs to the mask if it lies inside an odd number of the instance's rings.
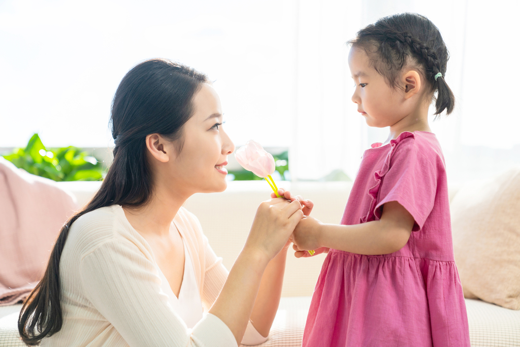
[[417,232],[435,202],[438,157],[433,150],[421,148],[414,142],[413,136],[402,138],[387,159],[389,163],[385,164],[389,164],[389,168],[381,177],[374,215],[380,219],[383,204],[397,201],[412,215],[415,220],[412,231]]

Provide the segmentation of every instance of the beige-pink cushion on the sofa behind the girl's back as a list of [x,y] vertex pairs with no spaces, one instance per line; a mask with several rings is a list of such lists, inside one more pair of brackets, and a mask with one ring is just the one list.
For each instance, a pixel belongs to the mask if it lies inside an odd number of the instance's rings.
[[520,169],[464,185],[451,202],[464,297],[520,310]]

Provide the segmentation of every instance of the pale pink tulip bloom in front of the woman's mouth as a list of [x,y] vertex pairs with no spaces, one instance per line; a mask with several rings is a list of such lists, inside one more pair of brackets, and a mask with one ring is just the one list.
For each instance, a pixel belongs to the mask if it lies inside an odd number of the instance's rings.
[[265,178],[275,172],[275,159],[253,140],[240,147],[235,152],[235,158],[245,170],[252,171],[258,177]]

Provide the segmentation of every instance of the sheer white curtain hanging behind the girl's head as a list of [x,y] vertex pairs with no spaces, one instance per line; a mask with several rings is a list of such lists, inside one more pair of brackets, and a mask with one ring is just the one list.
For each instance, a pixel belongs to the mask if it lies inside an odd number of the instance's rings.
[[319,179],[340,169],[353,178],[362,151],[386,139],[387,129],[368,127],[350,101],[353,82],[344,42],[365,25],[398,12],[432,20],[450,52],[446,80],[457,107],[431,122],[450,179],[462,182],[520,164],[514,39],[519,7],[504,0],[298,2],[293,177]]

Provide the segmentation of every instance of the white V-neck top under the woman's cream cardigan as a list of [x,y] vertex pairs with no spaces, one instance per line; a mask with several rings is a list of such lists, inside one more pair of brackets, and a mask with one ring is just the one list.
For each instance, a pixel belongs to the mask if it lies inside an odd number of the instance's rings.
[[195,271],[191,261],[190,252],[186,247],[186,242],[183,238],[184,247],[184,275],[183,281],[180,285],[179,297],[175,296],[170,283],[162,273],[159,266],[157,271],[161,277],[161,289],[168,295],[168,304],[172,306],[173,311],[183,318],[184,323],[188,328],[193,328],[199,320],[202,319],[202,301],[200,299],[199,288],[195,278]]

